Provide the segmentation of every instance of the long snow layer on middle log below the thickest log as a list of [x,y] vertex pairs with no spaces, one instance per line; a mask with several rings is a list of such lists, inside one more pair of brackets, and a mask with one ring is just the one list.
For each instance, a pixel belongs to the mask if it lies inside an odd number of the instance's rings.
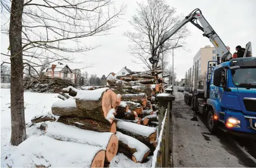
[[56,140],[88,144],[106,150],[106,146],[113,133],[98,133],[65,125],[61,122],[49,122],[45,135]]

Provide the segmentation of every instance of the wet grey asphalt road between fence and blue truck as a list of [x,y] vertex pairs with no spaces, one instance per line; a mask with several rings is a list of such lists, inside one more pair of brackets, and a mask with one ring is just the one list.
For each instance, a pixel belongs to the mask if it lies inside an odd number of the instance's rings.
[[212,135],[202,117],[191,121],[193,111],[174,89],[173,167],[256,167],[256,142],[227,135]]

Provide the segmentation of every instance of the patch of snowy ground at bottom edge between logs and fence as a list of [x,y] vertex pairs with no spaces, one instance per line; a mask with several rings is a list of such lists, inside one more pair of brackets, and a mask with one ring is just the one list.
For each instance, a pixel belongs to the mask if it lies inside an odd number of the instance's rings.
[[110,162],[109,167],[151,167],[152,156],[148,156],[149,159],[146,163],[134,163],[130,158],[124,154],[117,154]]

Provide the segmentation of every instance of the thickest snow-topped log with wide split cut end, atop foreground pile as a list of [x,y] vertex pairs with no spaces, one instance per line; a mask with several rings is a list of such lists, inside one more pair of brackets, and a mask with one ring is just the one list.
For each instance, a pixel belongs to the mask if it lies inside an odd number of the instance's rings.
[[[70,103],[66,104],[67,101]],[[74,116],[79,118],[90,118],[101,122],[112,122],[115,113],[112,109],[116,107],[117,95],[108,87],[96,90],[78,90],[75,103],[72,100],[65,100],[65,103],[55,103],[54,107],[66,108],[70,110],[54,111],[55,115]],[[60,105],[61,104],[61,105]],[[65,105],[66,104],[66,105]],[[76,104],[77,110],[74,107]],[[61,106],[61,107],[60,107]],[[53,109],[54,110],[54,109]]]

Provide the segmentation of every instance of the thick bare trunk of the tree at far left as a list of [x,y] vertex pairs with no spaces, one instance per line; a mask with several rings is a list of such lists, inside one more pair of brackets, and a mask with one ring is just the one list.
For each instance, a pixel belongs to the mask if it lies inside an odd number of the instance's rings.
[[23,53],[22,53],[22,13],[24,0],[12,0],[9,42],[11,50],[11,144],[19,145],[26,140]]

